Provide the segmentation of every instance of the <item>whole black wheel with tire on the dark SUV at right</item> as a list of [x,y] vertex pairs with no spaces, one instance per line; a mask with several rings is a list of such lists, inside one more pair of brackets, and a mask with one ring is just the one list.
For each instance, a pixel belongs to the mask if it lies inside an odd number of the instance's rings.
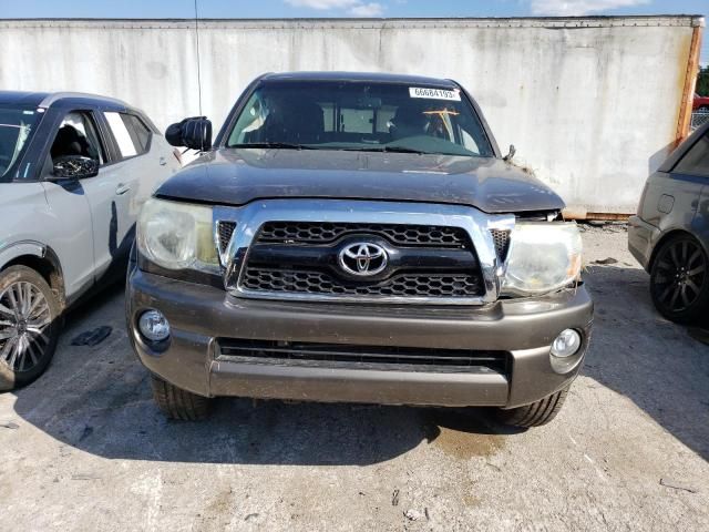
[[650,269],[650,295],[657,310],[678,323],[697,321],[709,304],[707,254],[690,235],[665,242]]

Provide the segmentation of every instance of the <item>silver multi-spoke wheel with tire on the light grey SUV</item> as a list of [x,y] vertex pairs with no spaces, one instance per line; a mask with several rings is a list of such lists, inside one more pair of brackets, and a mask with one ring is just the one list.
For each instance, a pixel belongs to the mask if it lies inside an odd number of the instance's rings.
[[39,378],[56,350],[61,307],[47,280],[27,266],[0,273],[0,390]]

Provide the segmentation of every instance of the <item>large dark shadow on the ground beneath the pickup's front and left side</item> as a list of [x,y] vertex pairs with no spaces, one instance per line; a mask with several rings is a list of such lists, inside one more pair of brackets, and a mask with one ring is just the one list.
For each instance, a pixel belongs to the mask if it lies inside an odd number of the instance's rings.
[[[105,325],[113,331],[102,344],[71,345],[76,335]],[[471,417],[439,409],[226,398],[215,401],[206,421],[168,421],[129,345],[120,285],[69,314],[48,372],[14,393],[19,418],[62,446],[111,459],[364,466],[433,443],[442,428],[474,433],[482,448],[499,446],[499,434],[514,433],[487,421],[484,410]]]

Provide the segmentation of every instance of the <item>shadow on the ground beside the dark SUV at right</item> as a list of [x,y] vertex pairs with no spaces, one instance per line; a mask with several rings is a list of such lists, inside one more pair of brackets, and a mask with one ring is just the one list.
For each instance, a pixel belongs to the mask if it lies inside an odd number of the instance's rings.
[[648,279],[637,268],[588,268],[596,313],[583,374],[709,460],[709,346],[657,313]]

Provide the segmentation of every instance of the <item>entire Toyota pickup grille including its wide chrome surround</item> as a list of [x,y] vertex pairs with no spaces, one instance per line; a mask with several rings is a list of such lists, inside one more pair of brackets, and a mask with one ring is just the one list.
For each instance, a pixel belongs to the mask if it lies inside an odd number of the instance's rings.
[[515,223],[464,205],[340,198],[213,215],[213,269],[230,297],[432,306],[495,301]]

